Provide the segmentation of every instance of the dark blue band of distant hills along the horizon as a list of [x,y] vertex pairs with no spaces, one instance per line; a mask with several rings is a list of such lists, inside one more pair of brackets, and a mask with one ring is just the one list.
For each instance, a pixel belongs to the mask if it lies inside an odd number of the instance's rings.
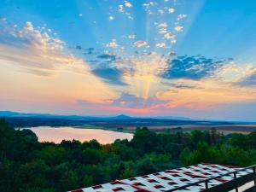
[[108,117],[79,116],[79,115],[58,115],[47,113],[19,113],[11,111],[0,111],[0,118],[4,117],[13,127],[34,127],[34,126],[77,126],[97,125],[102,127],[120,126],[166,126],[171,125],[233,125],[228,121],[198,120],[174,116],[160,117],[131,117],[125,114]]

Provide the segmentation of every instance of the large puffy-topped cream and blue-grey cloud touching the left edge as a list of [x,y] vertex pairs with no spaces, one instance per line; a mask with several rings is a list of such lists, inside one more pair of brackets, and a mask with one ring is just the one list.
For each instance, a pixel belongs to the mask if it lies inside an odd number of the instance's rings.
[[18,28],[1,24],[0,59],[20,67],[20,71],[41,76],[52,76],[68,69],[86,73],[84,61],[68,53],[60,38],[51,36],[51,30],[35,27],[32,22]]

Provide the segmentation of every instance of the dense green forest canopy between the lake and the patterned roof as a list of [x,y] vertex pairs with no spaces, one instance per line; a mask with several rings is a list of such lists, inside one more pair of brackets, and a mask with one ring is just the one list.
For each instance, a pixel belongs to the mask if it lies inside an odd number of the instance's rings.
[[0,136],[0,191],[6,192],[63,192],[200,162],[256,164],[256,132],[155,133],[143,127],[131,141],[55,144],[39,143],[32,131],[0,119]]

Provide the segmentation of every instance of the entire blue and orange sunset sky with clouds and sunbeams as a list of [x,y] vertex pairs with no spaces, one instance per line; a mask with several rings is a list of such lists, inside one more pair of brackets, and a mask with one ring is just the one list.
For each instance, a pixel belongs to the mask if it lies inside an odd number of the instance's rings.
[[253,0],[2,0],[0,110],[256,121]]

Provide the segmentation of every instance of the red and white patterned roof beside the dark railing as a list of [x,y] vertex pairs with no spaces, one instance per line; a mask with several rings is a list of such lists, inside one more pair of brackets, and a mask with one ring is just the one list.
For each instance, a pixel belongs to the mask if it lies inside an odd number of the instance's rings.
[[[236,166],[220,166],[215,164],[201,163],[195,166],[186,166],[179,169],[166,170],[164,172],[156,172],[153,174],[143,175],[140,177],[132,177],[123,180],[117,180],[111,183],[99,184],[89,188],[76,189],[71,192],[162,192],[169,189],[195,183],[209,177],[216,177],[228,172],[235,172],[241,169]],[[251,170],[241,171],[236,177],[247,175]],[[224,176],[210,180],[208,187],[218,185],[233,179],[233,175]],[[190,186],[187,189],[175,190],[177,192],[201,191],[205,189],[205,183]]]

